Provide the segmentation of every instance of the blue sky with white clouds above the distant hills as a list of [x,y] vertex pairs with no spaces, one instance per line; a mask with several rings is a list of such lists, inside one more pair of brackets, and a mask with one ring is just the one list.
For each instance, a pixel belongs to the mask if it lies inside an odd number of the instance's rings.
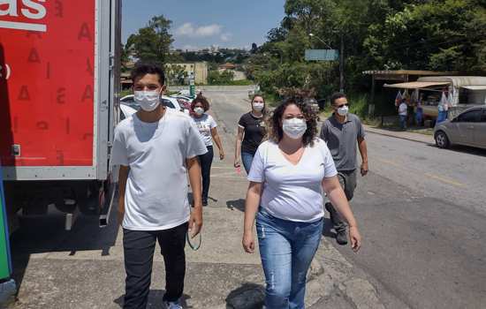
[[284,18],[285,0],[123,0],[122,40],[163,14],[175,49],[248,48]]

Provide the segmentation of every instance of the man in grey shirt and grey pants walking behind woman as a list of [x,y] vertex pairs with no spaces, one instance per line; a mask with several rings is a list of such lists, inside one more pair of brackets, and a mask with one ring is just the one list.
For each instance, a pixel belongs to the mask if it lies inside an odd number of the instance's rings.
[[[360,149],[362,159],[361,176],[368,173],[365,131],[360,118],[348,113],[349,104],[346,94],[332,94],[330,103],[334,113],[324,121],[321,139],[326,141],[330,149],[330,154],[338,170],[339,184],[343,187],[347,200],[351,200],[356,188],[356,145]],[[325,207],[330,212],[330,220],[336,230],[336,241],[339,245],[346,245],[346,223],[330,202],[326,203]]]

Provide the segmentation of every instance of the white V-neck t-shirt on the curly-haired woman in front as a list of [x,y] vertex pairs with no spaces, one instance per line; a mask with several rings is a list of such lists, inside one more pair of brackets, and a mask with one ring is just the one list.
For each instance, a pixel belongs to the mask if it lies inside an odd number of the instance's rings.
[[258,147],[248,180],[263,184],[261,206],[279,219],[315,222],[323,212],[323,178],[338,174],[323,139],[306,147],[297,165],[289,162],[278,145],[265,141]]

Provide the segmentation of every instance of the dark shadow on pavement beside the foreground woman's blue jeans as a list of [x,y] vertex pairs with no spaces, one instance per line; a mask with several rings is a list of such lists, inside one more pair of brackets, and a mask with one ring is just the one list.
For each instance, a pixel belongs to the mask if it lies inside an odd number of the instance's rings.
[[265,288],[256,283],[243,283],[238,289],[232,290],[226,298],[227,308],[260,309],[265,298]]

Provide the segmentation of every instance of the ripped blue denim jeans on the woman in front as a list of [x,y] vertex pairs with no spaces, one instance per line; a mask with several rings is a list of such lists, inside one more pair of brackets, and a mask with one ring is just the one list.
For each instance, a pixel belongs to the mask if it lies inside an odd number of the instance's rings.
[[282,220],[260,207],[256,231],[265,273],[266,308],[304,308],[308,268],[321,241],[323,220]]

